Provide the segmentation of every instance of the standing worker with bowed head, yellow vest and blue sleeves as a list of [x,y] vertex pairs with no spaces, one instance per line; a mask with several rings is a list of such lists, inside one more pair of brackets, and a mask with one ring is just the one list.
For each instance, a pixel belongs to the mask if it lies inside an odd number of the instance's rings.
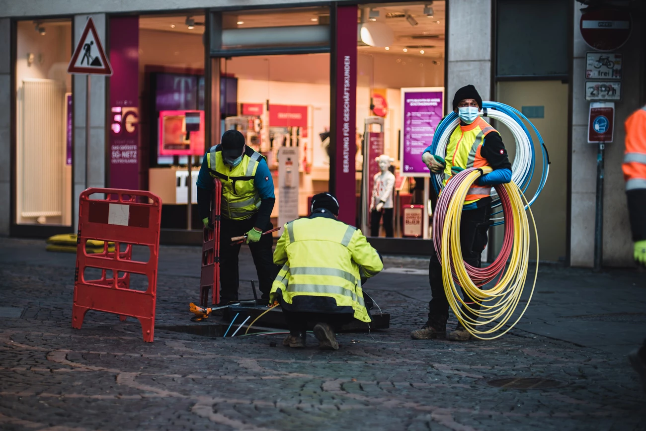
[[262,298],[269,300],[278,267],[271,257],[271,235],[262,236],[273,228],[269,218],[276,201],[267,160],[245,145],[242,133],[224,132],[222,143],[205,154],[198,176],[198,211],[205,227],[211,227],[213,222],[209,220],[213,178],[222,182],[219,305],[238,300],[240,244],[232,246],[231,237],[242,235],[247,235]]

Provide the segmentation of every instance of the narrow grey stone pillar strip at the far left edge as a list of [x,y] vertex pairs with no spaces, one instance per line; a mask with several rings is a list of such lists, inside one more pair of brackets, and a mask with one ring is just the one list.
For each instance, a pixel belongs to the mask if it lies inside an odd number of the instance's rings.
[[11,23],[0,19],[0,235],[9,234],[11,202]]

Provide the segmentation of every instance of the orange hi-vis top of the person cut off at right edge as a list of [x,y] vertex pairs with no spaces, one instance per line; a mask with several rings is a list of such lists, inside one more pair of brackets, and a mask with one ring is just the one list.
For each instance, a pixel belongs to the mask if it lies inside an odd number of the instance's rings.
[[633,112],[624,125],[626,151],[622,168],[626,191],[646,189],[646,106]]

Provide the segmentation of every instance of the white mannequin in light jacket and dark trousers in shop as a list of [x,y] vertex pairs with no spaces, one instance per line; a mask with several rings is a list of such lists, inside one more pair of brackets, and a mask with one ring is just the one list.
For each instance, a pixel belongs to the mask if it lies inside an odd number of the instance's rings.
[[370,235],[379,237],[379,221],[383,214],[384,229],[386,237],[393,237],[393,189],[395,187],[395,175],[388,171],[391,163],[395,160],[381,154],[375,158],[379,163],[381,172],[376,173],[373,178],[372,196],[370,198]]

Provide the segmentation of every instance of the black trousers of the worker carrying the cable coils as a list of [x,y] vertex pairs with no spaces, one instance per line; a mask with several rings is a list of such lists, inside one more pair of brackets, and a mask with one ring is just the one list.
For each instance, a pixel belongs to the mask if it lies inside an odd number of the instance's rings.
[[[481,255],[487,243],[487,231],[491,224],[490,216],[490,205],[462,212],[460,222],[462,256],[464,262],[477,268],[481,267]],[[444,293],[442,266],[435,254],[435,249],[433,249],[431,260],[428,264],[428,282],[431,285],[432,299],[428,303],[428,322],[426,322],[426,325],[432,326],[438,331],[444,331],[446,330],[446,321],[448,321],[449,305],[448,300],[446,300],[446,293]],[[470,301],[466,298],[465,302]],[[475,315],[469,313],[469,308],[479,310],[480,304],[469,304],[468,308],[462,306],[462,310],[475,319]]]

